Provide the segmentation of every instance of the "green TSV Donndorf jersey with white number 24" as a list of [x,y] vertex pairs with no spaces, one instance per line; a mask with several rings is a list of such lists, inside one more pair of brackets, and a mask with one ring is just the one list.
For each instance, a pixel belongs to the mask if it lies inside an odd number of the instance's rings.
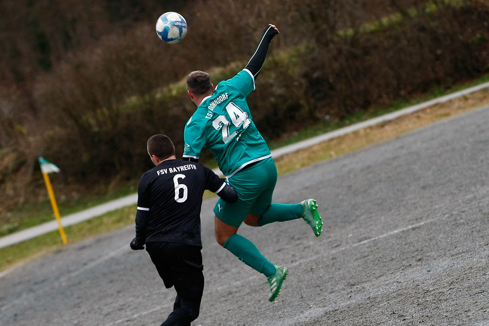
[[248,164],[271,157],[246,102],[254,89],[255,80],[247,69],[219,83],[185,125],[183,157],[198,159],[205,147],[228,177]]

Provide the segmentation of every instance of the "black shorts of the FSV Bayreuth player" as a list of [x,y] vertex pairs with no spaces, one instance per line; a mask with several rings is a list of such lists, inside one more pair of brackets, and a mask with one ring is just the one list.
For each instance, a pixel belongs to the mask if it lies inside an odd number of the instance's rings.
[[204,290],[202,247],[176,242],[146,242],[146,251],[167,288],[185,299],[200,299]]

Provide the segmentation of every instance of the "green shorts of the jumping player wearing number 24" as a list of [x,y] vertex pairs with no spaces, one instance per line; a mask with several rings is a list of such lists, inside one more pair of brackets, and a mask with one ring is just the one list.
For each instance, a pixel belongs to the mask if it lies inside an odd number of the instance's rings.
[[272,202],[277,167],[271,157],[266,158],[234,174],[228,181],[236,189],[239,199],[235,203],[226,203],[219,198],[214,214],[224,223],[238,227],[248,213],[261,216]]

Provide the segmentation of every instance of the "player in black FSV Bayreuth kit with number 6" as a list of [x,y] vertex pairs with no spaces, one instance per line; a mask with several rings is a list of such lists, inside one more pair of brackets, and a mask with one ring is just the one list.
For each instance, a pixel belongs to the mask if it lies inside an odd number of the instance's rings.
[[144,249],[166,288],[175,286],[173,312],[161,326],[190,326],[199,316],[204,287],[200,206],[208,189],[227,202],[238,195],[212,170],[175,156],[170,138],[148,139],[148,153],[156,165],[141,176],[138,186],[136,237],[133,250]]

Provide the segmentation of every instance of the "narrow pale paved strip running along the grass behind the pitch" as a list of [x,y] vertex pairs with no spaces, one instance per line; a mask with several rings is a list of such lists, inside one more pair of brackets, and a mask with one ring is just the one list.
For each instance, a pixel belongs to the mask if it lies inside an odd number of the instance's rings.
[[[414,106],[411,106],[411,107],[408,107],[405,109],[401,109],[401,110],[396,111],[396,112],[385,114],[383,116],[379,116],[377,118],[374,118],[374,119],[371,119],[368,121],[360,122],[360,123],[357,123],[357,124],[349,126],[349,127],[345,127],[345,128],[339,129],[339,130],[328,132],[328,133],[325,133],[323,135],[313,137],[311,139],[307,139],[307,140],[304,140],[304,141],[301,141],[301,142],[298,142],[295,144],[291,144],[289,146],[284,146],[282,148],[276,149],[276,150],[272,151],[272,156],[274,158],[277,158],[279,156],[289,154],[291,152],[295,152],[295,151],[298,151],[300,149],[319,144],[319,143],[327,141],[329,139],[333,139],[335,137],[342,136],[342,135],[345,135],[347,133],[350,133],[350,132],[353,132],[356,130],[360,130],[360,129],[367,128],[370,126],[374,126],[374,125],[377,125],[377,124],[385,122],[385,121],[391,121],[391,120],[394,120],[396,118],[399,118],[400,116],[416,112],[420,109],[427,108],[431,105],[438,104],[438,103],[444,103],[444,102],[447,102],[449,100],[452,100],[452,99],[455,99],[455,98],[458,98],[458,97],[479,91],[481,89],[486,89],[486,88],[489,88],[489,83],[484,83],[484,84],[481,84],[481,85],[478,85],[475,87],[470,87],[470,88],[467,88],[467,89],[464,89],[464,90],[461,90],[461,91],[458,91],[458,92],[455,92],[452,94],[448,94],[448,95],[445,95],[445,96],[442,96],[442,97],[439,97],[439,98],[436,98],[436,99],[433,99],[433,100],[430,100],[427,102],[423,102],[423,103],[420,103],[420,104],[417,104],[417,105],[414,105]],[[219,171],[219,169],[216,169],[215,172],[221,173]],[[93,217],[101,216],[101,215],[108,213],[108,212],[111,212],[111,211],[115,211],[119,208],[134,205],[134,204],[136,204],[136,202],[137,202],[137,194],[132,194],[129,196],[125,196],[125,197],[113,200],[111,202],[107,202],[105,204],[94,206],[94,207],[87,209],[85,211],[81,211],[78,213],[68,215],[66,217],[62,217],[61,222],[62,222],[63,226],[69,226],[69,225],[76,224],[76,223],[85,221],[87,219],[93,218]],[[41,225],[26,229],[26,230],[22,230],[22,231],[19,231],[17,233],[14,233],[14,234],[0,238],[0,248],[7,247],[7,246],[10,246],[12,244],[16,244],[16,243],[19,243],[19,242],[22,242],[22,241],[25,241],[28,239],[32,239],[32,238],[38,237],[40,235],[46,234],[48,232],[55,231],[55,230],[58,230],[58,223],[56,220],[52,220],[50,222],[46,222],[46,223],[43,223]]]

